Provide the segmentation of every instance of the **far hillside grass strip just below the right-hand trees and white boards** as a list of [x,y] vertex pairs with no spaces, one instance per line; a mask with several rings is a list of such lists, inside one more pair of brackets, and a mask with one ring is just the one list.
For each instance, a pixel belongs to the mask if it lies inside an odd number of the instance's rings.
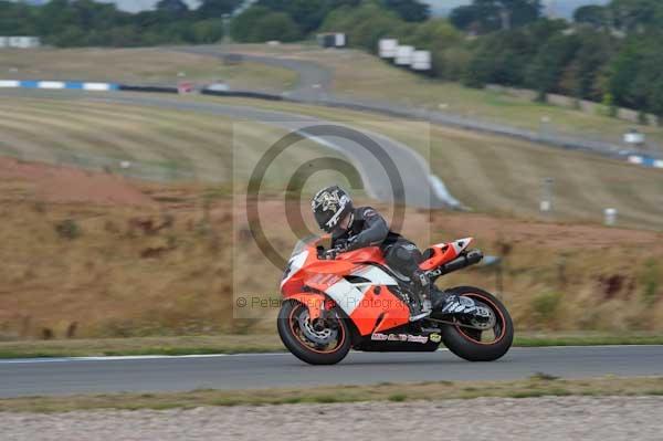
[[[424,107],[454,115],[503,123],[532,130],[571,133],[621,143],[633,123],[587,114],[508,94],[474,90],[398,69],[379,57],[356,50],[325,51],[315,45],[261,44],[234,45],[233,50],[267,53],[273,56],[309,60],[334,72],[333,91],[339,95],[400,103],[404,107]],[[547,123],[541,123],[547,118]],[[660,127],[638,126],[655,143],[663,144]]]

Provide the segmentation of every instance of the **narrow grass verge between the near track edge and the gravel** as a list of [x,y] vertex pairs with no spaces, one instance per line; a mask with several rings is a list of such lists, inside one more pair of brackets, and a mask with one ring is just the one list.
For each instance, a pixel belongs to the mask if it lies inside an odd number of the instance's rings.
[[372,386],[256,390],[193,390],[177,393],[115,393],[69,397],[29,397],[0,400],[0,411],[65,412],[93,409],[172,409],[201,406],[263,406],[357,401],[472,399],[478,397],[530,398],[544,396],[663,395],[663,377],[567,380],[547,374],[517,381],[382,382]]

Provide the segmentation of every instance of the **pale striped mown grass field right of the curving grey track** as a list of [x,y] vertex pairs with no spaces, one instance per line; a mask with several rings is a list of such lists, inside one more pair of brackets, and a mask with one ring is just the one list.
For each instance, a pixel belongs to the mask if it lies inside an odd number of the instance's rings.
[[418,149],[452,195],[475,211],[540,219],[543,181],[552,178],[554,212],[544,219],[601,222],[603,210],[615,208],[621,225],[663,230],[661,170],[382,115],[290,103],[213,99],[318,116],[388,135]]

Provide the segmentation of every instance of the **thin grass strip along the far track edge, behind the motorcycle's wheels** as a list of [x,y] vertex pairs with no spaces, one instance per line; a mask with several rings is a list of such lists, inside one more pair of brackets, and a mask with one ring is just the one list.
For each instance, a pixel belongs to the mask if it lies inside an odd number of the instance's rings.
[[[663,345],[663,335],[520,333],[515,346]],[[0,343],[0,358],[97,357],[131,355],[255,354],[284,351],[276,334],[139,337]]]

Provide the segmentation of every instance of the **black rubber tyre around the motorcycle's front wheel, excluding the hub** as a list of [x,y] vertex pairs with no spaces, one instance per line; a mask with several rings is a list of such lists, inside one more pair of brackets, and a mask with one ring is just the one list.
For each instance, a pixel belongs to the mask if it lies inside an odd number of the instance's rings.
[[276,328],[278,336],[285,347],[302,361],[309,365],[335,365],[343,360],[351,347],[350,328],[347,322],[335,307],[329,312],[328,318],[334,325],[337,338],[332,347],[316,347],[315,343],[307,339],[306,335],[299,329],[299,317],[308,311],[301,302],[291,300],[283,303],[278,312]]

